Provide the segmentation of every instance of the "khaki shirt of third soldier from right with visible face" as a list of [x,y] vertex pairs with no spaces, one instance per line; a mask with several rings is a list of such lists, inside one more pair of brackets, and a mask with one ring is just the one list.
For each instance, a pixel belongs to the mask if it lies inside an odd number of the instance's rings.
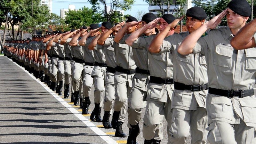
[[[148,49],[149,44],[155,38],[156,35],[139,37],[132,44],[132,47],[141,49]],[[173,63],[172,53],[151,53],[148,52],[150,76],[156,76],[161,78],[173,77]],[[167,95],[172,98],[172,92],[174,90],[173,84],[148,84],[147,100],[167,102]]]

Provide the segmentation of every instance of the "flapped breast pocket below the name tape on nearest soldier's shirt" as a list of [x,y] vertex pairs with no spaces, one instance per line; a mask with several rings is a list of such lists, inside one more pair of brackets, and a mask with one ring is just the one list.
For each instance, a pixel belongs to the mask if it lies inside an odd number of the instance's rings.
[[217,45],[215,52],[214,65],[229,68],[231,63],[231,57],[234,49],[225,45]]

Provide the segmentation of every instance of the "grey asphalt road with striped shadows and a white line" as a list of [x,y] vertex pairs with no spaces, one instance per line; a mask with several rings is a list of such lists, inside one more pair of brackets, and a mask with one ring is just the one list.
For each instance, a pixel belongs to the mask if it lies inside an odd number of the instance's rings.
[[[93,90],[89,112],[94,108]],[[1,144],[126,143],[127,138],[117,138],[114,129],[105,129],[102,123],[91,122],[90,115],[82,115],[82,109],[69,101],[70,98],[63,99],[63,96],[56,95],[46,84],[12,60],[0,56]],[[144,113],[145,109],[142,112],[143,116]],[[123,131],[128,136],[127,119],[126,114]],[[142,123],[143,118],[140,122],[141,130]],[[166,144],[165,119],[163,125],[164,139],[161,143]],[[142,132],[137,142],[144,143]]]

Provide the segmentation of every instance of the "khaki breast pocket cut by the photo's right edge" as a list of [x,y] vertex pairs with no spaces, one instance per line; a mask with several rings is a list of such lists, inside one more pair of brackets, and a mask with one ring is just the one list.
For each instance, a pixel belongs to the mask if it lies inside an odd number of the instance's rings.
[[245,69],[256,69],[256,49],[250,48],[245,50],[246,61]]

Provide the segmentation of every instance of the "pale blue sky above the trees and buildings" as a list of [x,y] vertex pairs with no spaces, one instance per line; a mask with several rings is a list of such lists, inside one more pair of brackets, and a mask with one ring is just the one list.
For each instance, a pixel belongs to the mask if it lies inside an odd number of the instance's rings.
[[[134,0],[135,3],[132,5],[132,9],[125,11],[124,14],[130,14],[132,16],[138,15],[139,11],[144,13],[148,12],[148,4],[143,0]],[[91,7],[92,5],[87,0],[52,0],[52,12],[60,16],[60,9],[68,9],[68,5],[73,4],[76,6],[76,9],[82,7]],[[103,5],[102,5],[103,6]]]

